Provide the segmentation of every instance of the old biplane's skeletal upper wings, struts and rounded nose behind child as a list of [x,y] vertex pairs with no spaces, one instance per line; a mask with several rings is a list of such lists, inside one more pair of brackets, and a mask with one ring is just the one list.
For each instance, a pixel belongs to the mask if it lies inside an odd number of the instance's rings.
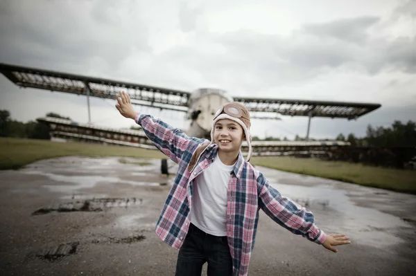
[[[252,118],[257,119],[279,120],[279,116],[307,117],[306,141],[309,141],[311,118],[357,120],[381,107],[381,104],[363,102],[248,98],[232,96],[227,91],[212,88],[200,88],[192,92],[180,91],[4,63],[0,64],[0,71],[8,80],[22,88],[28,87],[85,95],[87,97],[89,123],[91,123],[89,97],[115,100],[116,93],[125,91],[130,95],[132,104],[186,113],[187,128],[184,129],[184,132],[189,136],[208,139],[210,138],[214,113],[220,105],[226,102],[235,101],[245,104],[252,113]],[[257,116],[258,112],[272,113],[275,117]]]

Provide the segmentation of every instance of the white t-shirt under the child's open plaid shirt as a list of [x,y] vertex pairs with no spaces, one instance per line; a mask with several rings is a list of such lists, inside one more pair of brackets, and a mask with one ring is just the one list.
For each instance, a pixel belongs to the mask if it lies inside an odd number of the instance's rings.
[[227,236],[227,191],[234,165],[224,165],[218,154],[193,183],[191,223],[214,236]]

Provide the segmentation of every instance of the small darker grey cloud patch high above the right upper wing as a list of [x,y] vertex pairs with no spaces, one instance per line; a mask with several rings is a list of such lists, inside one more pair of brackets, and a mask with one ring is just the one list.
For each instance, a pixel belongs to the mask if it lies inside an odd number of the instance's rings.
[[335,37],[345,42],[361,43],[368,39],[368,28],[379,21],[379,17],[338,19],[324,24],[306,24],[302,30],[318,37]]

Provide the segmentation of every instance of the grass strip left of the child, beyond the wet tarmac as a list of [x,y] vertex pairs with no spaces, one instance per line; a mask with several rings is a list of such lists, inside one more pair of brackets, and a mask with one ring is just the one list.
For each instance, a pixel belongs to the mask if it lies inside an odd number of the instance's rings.
[[19,169],[37,160],[61,156],[164,158],[160,151],[151,149],[84,142],[0,138],[0,169]]

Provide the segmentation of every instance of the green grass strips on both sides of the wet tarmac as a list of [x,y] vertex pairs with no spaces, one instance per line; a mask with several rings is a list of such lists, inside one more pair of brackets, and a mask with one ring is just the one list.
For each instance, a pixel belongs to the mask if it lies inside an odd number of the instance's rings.
[[[126,160],[130,158],[164,158],[157,150],[98,145],[83,142],[51,142],[0,138],[0,169],[19,169],[36,160],[60,156],[118,156],[121,163],[147,163]],[[291,157],[252,158],[253,165],[281,169],[286,172],[320,176],[359,185],[416,194],[416,171],[371,167],[345,162],[323,161]]]

